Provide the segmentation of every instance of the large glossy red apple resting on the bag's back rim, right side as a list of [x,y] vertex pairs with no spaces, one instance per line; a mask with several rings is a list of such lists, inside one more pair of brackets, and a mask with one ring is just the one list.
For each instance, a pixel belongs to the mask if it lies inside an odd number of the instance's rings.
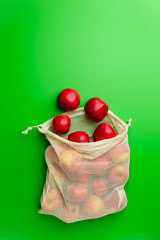
[[89,118],[95,122],[100,122],[108,113],[108,105],[100,98],[94,97],[88,100],[84,110]]

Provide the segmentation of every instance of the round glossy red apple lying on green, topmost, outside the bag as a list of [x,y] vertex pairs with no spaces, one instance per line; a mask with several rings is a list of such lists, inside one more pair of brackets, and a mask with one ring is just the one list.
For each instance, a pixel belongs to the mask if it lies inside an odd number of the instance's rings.
[[66,88],[59,93],[57,104],[64,111],[73,111],[80,104],[80,95],[76,90]]

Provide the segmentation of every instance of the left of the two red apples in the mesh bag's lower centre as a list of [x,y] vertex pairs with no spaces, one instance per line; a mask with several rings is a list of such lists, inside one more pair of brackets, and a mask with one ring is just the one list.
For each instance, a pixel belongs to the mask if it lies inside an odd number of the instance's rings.
[[68,199],[72,203],[82,203],[87,197],[87,188],[84,183],[72,183],[67,189]]

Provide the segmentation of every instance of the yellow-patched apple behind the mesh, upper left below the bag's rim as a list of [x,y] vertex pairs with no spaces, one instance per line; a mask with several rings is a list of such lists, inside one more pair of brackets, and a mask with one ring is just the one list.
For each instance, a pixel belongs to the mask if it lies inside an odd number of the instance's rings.
[[74,172],[82,163],[81,155],[75,150],[67,150],[62,153],[59,164],[68,172]]

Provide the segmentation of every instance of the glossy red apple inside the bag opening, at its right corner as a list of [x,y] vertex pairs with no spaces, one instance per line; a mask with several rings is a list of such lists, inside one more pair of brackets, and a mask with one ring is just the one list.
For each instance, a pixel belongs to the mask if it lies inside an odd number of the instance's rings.
[[116,132],[109,123],[101,123],[93,133],[94,141],[101,141],[103,139],[109,139],[116,136]]

